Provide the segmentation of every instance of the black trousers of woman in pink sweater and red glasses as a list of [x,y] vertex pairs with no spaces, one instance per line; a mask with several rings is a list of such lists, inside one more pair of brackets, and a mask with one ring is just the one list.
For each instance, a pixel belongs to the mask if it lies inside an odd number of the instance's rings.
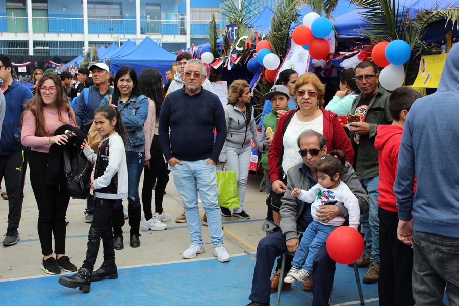
[[[67,213],[70,193],[65,180],[60,184],[46,185],[45,175],[48,167],[48,154],[30,152],[30,183],[38,206],[38,237],[41,253],[53,253],[52,234],[54,235],[54,252],[65,254],[65,214]],[[21,196],[22,197],[22,196]]]

